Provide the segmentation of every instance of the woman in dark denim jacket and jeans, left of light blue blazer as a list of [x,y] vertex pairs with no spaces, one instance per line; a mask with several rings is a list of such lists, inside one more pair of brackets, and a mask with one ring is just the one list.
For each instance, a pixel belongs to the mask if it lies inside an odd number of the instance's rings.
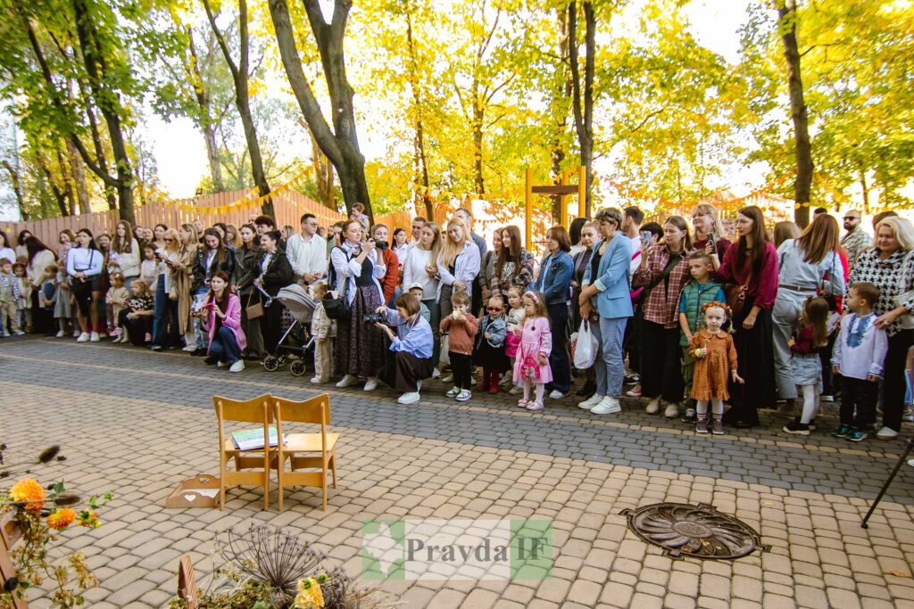
[[552,369],[552,383],[546,388],[549,397],[559,400],[571,390],[571,362],[568,350],[569,299],[571,298],[571,270],[574,263],[569,251],[571,238],[565,226],[553,226],[546,231],[546,247],[549,253],[539,265],[539,276],[535,290],[543,293],[552,328],[552,352],[549,367]]

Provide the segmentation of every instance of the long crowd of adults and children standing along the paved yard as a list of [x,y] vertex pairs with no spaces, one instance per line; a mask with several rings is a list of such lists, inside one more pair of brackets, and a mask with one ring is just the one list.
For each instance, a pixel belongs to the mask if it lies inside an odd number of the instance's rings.
[[416,217],[409,235],[369,226],[360,205],[325,228],[305,214],[298,231],[268,215],[121,221],[112,236],[63,230],[57,253],[22,231],[0,247],[2,331],[183,349],[239,373],[277,352],[290,323],[277,296],[297,284],[314,299],[312,383],[384,383],[414,404],[438,378],[456,401],[506,391],[536,412],[579,378],[582,409],[618,413],[627,394],[699,434],[788,404],[783,431],[807,436],[840,399],[833,436],[892,438],[910,416],[914,227],[887,212],[874,239],[852,210],[842,236],[822,212],[770,233],[744,207],[730,236],[713,205],[663,224],[605,208],[550,228],[538,261],[517,226],[490,249],[467,209],[444,226]]

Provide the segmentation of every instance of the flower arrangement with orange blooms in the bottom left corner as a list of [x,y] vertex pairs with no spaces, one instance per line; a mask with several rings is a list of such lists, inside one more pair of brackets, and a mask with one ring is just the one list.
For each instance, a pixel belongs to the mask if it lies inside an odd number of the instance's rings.
[[[33,459],[5,462],[6,445],[0,445],[0,479],[30,474],[32,469],[52,461],[65,461],[60,446],[48,446]],[[56,563],[50,550],[60,533],[73,524],[95,529],[100,525],[97,509],[112,499],[112,493],[92,495],[84,509],[79,493],[68,491],[63,482],[42,487],[35,478],[19,478],[12,487],[0,490],[0,527],[11,540],[18,540],[9,551],[16,568],[15,575],[5,576],[0,590],[0,609],[13,606],[14,597],[25,598],[30,586],[47,577],[56,583],[51,603],[56,607],[75,607],[85,603],[81,592],[98,581],[86,565],[81,551]],[[2,542],[2,541],[0,541]]]

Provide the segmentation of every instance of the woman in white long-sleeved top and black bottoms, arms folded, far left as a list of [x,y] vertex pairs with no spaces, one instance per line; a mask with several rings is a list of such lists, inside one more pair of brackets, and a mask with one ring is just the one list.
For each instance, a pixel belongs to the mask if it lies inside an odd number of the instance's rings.
[[77,247],[69,250],[67,256],[67,275],[73,296],[78,306],[77,319],[80,321],[80,338],[77,342],[99,341],[95,331],[99,324],[97,302],[101,297],[101,270],[104,257],[95,245],[95,239],[88,228],[80,228],[76,234]]

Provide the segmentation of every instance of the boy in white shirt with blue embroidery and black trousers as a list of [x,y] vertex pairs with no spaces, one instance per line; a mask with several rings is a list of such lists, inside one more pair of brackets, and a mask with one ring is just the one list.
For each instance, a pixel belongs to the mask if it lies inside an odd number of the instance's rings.
[[882,364],[888,352],[886,331],[874,321],[873,304],[879,289],[872,283],[855,283],[847,290],[847,313],[841,319],[832,352],[832,372],[841,374],[841,425],[832,432],[851,442],[866,438],[876,423],[876,402]]

